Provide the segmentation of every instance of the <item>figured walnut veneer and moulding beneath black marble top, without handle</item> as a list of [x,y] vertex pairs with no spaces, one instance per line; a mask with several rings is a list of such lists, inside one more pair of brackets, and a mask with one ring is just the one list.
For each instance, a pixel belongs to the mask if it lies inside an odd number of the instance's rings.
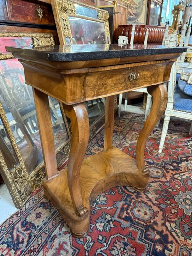
[[[130,57],[97,61],[75,61],[72,62],[73,64],[61,62],[54,63],[54,66],[50,61],[44,61],[42,64],[20,61],[24,66],[28,85],[32,85],[45,93],[48,91],[50,96],[65,104],[75,104],[168,82],[172,64],[178,56],[178,53],[167,54],[168,59],[161,60],[166,58],[166,54],[165,56],[157,55],[156,59],[159,59],[159,61],[145,61],[153,60],[154,57],[140,56],[139,60],[138,57]],[[170,59],[170,57],[173,58]],[[132,63],[134,61],[140,62]],[[129,64],[121,64],[126,62]],[[151,75],[152,70],[153,75]],[[132,72],[139,73],[139,78],[129,81],[129,76]]]

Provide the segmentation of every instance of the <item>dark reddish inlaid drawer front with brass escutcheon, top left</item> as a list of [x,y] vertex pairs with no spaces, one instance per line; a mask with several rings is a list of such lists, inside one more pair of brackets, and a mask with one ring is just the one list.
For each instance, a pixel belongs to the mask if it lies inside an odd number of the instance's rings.
[[54,25],[51,5],[22,0],[6,0],[9,21]]

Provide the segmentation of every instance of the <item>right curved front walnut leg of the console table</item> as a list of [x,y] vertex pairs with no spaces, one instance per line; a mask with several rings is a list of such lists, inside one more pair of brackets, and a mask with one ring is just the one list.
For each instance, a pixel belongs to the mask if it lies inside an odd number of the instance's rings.
[[137,141],[136,147],[136,158],[139,171],[143,173],[148,173],[148,168],[145,168],[145,161],[144,161],[144,149],[146,146],[146,141],[149,134],[152,132],[153,128],[156,126],[156,123],[161,118],[163,111],[165,110],[166,103],[167,103],[167,87],[166,84],[161,85],[154,85],[147,87],[147,91],[149,94],[153,96],[153,105],[151,112],[144,123],[144,127],[141,130]]

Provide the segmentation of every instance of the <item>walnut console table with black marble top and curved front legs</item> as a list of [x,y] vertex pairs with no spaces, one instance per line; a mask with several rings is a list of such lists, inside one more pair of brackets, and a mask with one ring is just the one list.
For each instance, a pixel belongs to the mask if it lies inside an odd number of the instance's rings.
[[[90,204],[115,186],[147,187],[146,140],[167,101],[165,83],[172,64],[187,48],[135,45],[72,45],[40,48],[7,47],[24,66],[26,83],[33,86],[50,199],[76,237],[89,232]],[[139,135],[136,160],[112,146],[116,94],[147,87],[153,106]],[[48,95],[63,103],[71,119],[72,146],[68,168],[57,171]],[[106,97],[104,150],[84,159],[89,139],[85,101]]]

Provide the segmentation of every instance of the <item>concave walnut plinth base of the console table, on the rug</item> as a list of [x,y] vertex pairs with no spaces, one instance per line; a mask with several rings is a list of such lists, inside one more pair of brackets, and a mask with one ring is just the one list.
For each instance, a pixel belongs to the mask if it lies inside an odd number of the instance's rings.
[[59,176],[49,181],[44,179],[43,186],[45,197],[59,210],[72,234],[83,237],[89,232],[89,208],[97,195],[116,186],[132,186],[144,191],[148,175],[138,170],[136,160],[112,147],[84,159],[79,182],[84,207],[88,210],[83,217],[78,216],[73,208],[67,184],[67,169],[59,171]]

